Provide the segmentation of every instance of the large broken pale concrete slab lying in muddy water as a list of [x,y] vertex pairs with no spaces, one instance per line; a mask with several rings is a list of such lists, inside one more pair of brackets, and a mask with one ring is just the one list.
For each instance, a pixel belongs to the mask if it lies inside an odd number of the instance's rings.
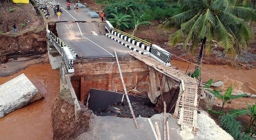
[[0,91],[0,118],[43,97],[25,74],[0,85]]

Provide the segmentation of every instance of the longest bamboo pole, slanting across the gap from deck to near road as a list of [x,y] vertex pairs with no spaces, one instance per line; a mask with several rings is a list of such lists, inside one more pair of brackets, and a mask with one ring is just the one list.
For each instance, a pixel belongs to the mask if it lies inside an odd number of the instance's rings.
[[[115,50],[114,50],[114,51],[115,51]],[[115,58],[116,58],[116,62],[117,62],[117,66],[118,66],[118,70],[119,70],[119,73],[120,73],[121,81],[122,81],[122,84],[123,84],[124,93],[125,93],[125,96],[126,96],[127,102],[128,102],[128,104],[129,104],[129,108],[130,108],[130,110],[131,110],[131,114],[132,114],[132,117],[133,117],[133,120],[134,120],[135,126],[136,126],[136,128],[139,128],[139,126],[138,126],[138,124],[137,124],[137,121],[136,121],[136,118],[135,118],[135,115],[134,115],[134,113],[133,113],[132,105],[131,105],[130,99],[129,99],[129,97],[128,97],[128,94],[127,94],[127,90],[126,90],[125,84],[124,84],[124,79],[123,79],[123,75],[122,75],[122,72],[121,72],[121,68],[120,68],[120,65],[119,65],[119,61],[118,61],[118,58],[117,58],[116,51],[115,51]]]

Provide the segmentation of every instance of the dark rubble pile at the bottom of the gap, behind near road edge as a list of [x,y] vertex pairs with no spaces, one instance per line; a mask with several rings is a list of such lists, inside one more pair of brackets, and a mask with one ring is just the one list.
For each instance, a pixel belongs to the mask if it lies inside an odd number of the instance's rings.
[[[147,105],[144,105],[144,103],[140,102],[131,102],[134,115],[135,117],[146,117],[150,118],[155,114],[158,114],[158,112]],[[102,108],[99,109],[97,112],[94,112],[97,116],[116,116],[116,117],[122,117],[122,118],[132,118],[130,108],[128,106],[128,103],[126,100],[123,101],[123,103],[118,102],[111,106],[108,106],[107,109]]]

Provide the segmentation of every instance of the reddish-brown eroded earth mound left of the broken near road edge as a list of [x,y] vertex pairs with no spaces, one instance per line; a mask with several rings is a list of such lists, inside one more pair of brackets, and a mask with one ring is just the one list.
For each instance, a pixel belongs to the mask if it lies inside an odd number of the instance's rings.
[[53,140],[72,140],[89,131],[91,110],[81,104],[74,110],[74,100],[69,90],[62,90],[52,107]]

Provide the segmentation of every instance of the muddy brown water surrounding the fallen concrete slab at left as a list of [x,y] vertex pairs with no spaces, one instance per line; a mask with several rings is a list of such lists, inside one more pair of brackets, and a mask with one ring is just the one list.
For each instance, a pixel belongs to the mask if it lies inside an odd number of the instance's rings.
[[59,70],[50,64],[34,64],[9,77],[0,85],[24,73],[45,98],[15,110],[0,119],[0,140],[52,140],[51,107],[60,90]]

